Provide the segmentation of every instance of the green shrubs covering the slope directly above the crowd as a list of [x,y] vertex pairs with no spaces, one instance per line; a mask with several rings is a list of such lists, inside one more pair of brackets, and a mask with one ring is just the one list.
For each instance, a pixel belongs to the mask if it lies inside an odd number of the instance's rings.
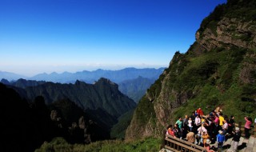
[[[179,91],[192,90],[196,95],[174,111],[174,118],[190,115],[198,107],[207,114],[216,106],[220,106],[224,114],[240,120],[245,115],[255,118],[255,83],[241,86],[238,81],[242,63],[252,61],[244,58],[250,51],[232,47],[230,50],[218,48],[195,58],[184,54],[190,62],[177,78],[172,78],[176,81],[170,82],[170,86]],[[255,78],[255,73],[251,77]]]

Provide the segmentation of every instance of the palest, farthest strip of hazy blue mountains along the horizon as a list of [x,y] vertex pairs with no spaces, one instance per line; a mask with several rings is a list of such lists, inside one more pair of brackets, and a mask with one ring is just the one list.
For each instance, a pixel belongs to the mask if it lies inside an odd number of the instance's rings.
[[99,78],[108,78],[110,81],[118,83],[125,80],[130,80],[134,78],[138,78],[139,76],[143,78],[153,78],[157,79],[162,71],[165,68],[144,68],[144,69],[136,69],[134,67],[125,68],[122,70],[93,70],[93,71],[79,71],[76,73],[63,72],[62,74],[58,74],[53,72],[51,74],[37,74],[33,77],[26,77],[20,74],[14,74],[10,72],[0,71],[0,79],[4,78],[10,81],[16,81],[19,78],[24,78],[27,80],[36,80],[36,81],[46,81],[46,82],[60,82],[60,83],[74,83],[77,80],[87,83],[93,83],[98,81]]

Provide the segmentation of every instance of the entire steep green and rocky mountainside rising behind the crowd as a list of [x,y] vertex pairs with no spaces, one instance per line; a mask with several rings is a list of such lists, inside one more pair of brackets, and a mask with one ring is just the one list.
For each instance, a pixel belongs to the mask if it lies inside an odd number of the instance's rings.
[[178,117],[221,106],[256,118],[256,1],[229,0],[202,21],[186,54],[176,52],[140,100],[126,138],[160,136]]

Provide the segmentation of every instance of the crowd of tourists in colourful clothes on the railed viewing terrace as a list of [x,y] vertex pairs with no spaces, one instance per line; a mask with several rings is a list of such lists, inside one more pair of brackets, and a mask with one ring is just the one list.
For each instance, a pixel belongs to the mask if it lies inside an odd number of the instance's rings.
[[[252,119],[245,117],[245,138],[250,138],[250,126]],[[234,151],[238,150],[238,142],[241,137],[240,129],[235,127],[234,116],[223,115],[217,108],[204,114],[201,108],[194,110],[190,116],[178,118],[174,126],[167,127],[166,134],[174,138],[181,138],[199,146],[204,146],[207,152],[222,150],[227,138],[232,138]],[[211,147],[210,143],[217,143],[217,147]]]

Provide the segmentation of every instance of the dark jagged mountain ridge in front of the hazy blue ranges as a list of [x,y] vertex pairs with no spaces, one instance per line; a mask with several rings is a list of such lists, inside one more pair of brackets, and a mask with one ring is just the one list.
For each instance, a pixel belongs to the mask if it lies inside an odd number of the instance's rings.
[[[130,110],[136,105],[133,100],[118,90],[117,84],[106,78],[100,78],[94,84],[80,81],[76,81],[74,84],[44,82],[38,86],[27,86],[24,90],[15,87],[14,90],[28,100],[41,95],[45,98],[46,104],[69,98],[84,110],[102,108],[116,117],[126,112],[126,108]],[[111,108],[108,104],[112,105]],[[118,106],[114,104],[118,104]]]

